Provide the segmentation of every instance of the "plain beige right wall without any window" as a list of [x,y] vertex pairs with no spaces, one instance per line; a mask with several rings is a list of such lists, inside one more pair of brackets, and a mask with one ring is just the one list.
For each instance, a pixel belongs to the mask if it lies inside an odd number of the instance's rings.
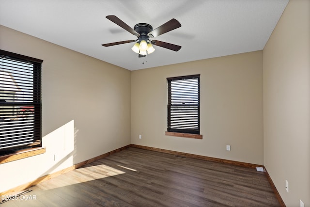
[[263,111],[264,165],[288,207],[309,207],[310,0],[289,1],[263,49]]

